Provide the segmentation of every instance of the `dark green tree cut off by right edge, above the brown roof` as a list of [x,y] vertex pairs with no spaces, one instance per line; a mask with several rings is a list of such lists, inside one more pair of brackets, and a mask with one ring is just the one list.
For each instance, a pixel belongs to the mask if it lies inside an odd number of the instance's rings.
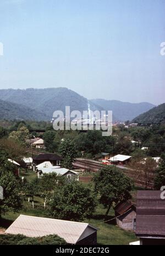
[[160,190],[161,186],[165,186],[165,153],[161,155],[161,161],[156,172],[154,186],[157,190]]

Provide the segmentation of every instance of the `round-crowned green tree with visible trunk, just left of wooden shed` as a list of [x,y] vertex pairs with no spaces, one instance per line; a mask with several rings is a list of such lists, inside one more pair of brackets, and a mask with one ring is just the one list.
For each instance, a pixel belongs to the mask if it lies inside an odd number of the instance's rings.
[[131,198],[130,191],[133,181],[116,166],[101,169],[94,176],[95,191],[100,195],[100,202],[107,208],[106,215],[113,203],[119,203]]

